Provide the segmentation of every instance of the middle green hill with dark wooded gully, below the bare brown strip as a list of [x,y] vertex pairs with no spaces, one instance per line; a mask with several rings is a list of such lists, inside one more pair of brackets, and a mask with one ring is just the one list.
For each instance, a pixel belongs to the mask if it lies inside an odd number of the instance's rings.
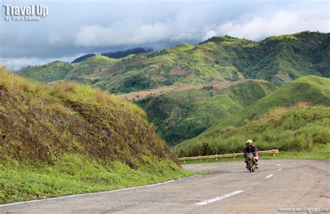
[[196,137],[215,122],[276,90],[272,83],[242,82],[229,88],[207,86],[136,101],[168,145]]

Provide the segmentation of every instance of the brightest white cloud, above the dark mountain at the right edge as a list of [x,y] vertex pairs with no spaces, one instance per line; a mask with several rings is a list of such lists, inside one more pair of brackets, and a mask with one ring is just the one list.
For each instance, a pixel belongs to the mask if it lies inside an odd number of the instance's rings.
[[256,16],[244,23],[227,22],[214,29],[218,34],[237,38],[260,40],[269,35],[283,35],[300,31],[329,32],[327,8],[304,8],[303,10],[279,10],[271,17]]

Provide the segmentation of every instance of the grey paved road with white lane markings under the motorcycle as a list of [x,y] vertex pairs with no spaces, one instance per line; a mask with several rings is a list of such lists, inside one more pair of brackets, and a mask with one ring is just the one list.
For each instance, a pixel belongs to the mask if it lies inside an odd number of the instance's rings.
[[240,162],[183,167],[213,173],[157,186],[0,206],[0,213],[278,213],[278,208],[303,207],[328,208],[330,213],[329,161],[261,160],[254,173]]

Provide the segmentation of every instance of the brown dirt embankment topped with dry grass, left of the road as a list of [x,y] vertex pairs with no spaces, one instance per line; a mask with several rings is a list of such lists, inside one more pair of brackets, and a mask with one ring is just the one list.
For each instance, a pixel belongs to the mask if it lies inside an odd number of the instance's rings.
[[0,69],[0,158],[52,163],[82,154],[135,167],[143,156],[175,155],[127,101],[74,83],[30,83]]

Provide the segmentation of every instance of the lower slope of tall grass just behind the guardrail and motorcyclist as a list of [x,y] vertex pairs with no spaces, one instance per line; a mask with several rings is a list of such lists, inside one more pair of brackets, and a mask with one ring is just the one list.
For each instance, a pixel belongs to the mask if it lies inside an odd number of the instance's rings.
[[210,138],[175,147],[179,157],[242,152],[244,142],[251,138],[260,150],[279,149],[320,153],[330,158],[330,107],[294,106],[276,107],[256,120],[239,127],[228,126]]

